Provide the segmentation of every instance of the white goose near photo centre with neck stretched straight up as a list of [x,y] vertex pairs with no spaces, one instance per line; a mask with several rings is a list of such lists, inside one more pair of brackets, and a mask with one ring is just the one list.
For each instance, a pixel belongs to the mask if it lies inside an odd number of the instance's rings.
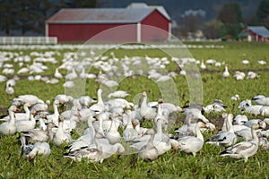
[[145,91],[143,92],[142,96],[143,101],[139,109],[139,113],[144,120],[152,121],[157,115],[157,110],[156,108],[152,108],[147,105],[147,93]]

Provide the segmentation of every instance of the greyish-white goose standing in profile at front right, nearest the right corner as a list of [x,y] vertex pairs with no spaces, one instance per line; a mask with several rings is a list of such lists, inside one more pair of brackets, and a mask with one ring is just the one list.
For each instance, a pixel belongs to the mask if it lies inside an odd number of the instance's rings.
[[259,139],[256,134],[256,129],[259,127],[259,124],[253,124],[251,126],[251,141],[241,141],[221,152],[221,156],[228,156],[230,158],[244,158],[245,162],[251,156],[256,154],[258,149]]

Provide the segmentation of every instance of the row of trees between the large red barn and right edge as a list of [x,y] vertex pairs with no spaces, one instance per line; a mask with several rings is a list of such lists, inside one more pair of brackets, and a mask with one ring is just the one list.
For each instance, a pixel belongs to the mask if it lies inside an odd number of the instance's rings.
[[210,21],[203,21],[199,16],[184,17],[178,26],[178,36],[194,35],[202,30],[206,38],[239,39],[246,35],[244,30],[248,25],[262,25],[269,29],[269,0],[262,0],[256,14],[244,18],[238,3],[221,5],[218,15]]

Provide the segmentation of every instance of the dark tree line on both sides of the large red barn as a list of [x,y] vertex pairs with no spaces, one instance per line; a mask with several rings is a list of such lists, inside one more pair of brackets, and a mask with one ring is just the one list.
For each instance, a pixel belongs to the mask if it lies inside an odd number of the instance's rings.
[[[101,7],[109,0],[0,0],[0,31],[6,36],[45,35],[45,21],[61,8]],[[256,14],[243,17],[238,3],[222,4],[215,18],[190,14],[182,17],[176,36],[187,37],[202,30],[206,38],[240,38],[247,25],[269,29],[269,0],[262,0]]]

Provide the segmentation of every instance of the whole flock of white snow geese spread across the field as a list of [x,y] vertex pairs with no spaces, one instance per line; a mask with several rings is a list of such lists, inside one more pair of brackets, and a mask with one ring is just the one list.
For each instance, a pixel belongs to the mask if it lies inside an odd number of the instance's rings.
[[[195,62],[200,64],[201,69],[206,69],[206,64],[221,66],[213,59],[198,62],[193,58],[179,59],[173,57],[180,66],[180,72],[167,72],[162,74],[159,70],[165,69],[170,61],[167,57],[157,58],[145,56],[144,58],[125,56],[117,58],[113,53],[109,56],[95,56],[91,51],[90,57],[82,61],[76,61],[75,53],[65,53],[63,64],[56,67],[52,77],[42,76],[40,73],[48,70],[45,64],[56,64],[54,57],[56,52],[31,52],[30,55],[20,53],[1,52],[0,82],[6,83],[5,93],[12,95],[16,81],[20,75],[28,75],[29,81],[45,81],[48,84],[56,84],[65,79],[65,88],[74,87],[74,79],[95,79],[108,88],[117,86],[117,81],[110,80],[113,76],[130,76],[132,74],[145,74],[156,81],[167,81],[175,75],[185,75],[185,64]],[[83,55],[83,54],[81,54]],[[32,57],[35,56],[34,59]],[[99,60],[97,60],[99,59]],[[150,69],[143,72],[143,60],[149,64]],[[119,65],[113,65],[120,61]],[[242,64],[247,64],[247,60]],[[32,63],[32,64],[30,64]],[[249,62],[248,62],[249,63]],[[265,65],[265,61],[258,62]],[[13,64],[18,64],[20,69],[15,71]],[[84,66],[94,66],[99,69],[98,74],[85,72]],[[131,68],[131,66],[136,68]],[[228,78],[230,72],[228,65],[222,73],[223,78]],[[69,73],[63,74],[59,70],[65,69]],[[79,72],[79,73],[78,73]],[[8,77],[13,78],[8,79]],[[256,72],[248,72],[247,79],[258,78]],[[235,72],[234,78],[245,79],[244,72]],[[53,111],[48,108],[50,101],[43,101],[39,97],[27,94],[13,98],[8,108],[7,116],[1,119],[0,133],[2,135],[13,135],[20,132],[22,146],[20,155],[32,160],[37,155],[49,156],[52,145],[55,147],[65,146],[64,158],[71,158],[80,161],[87,158],[92,162],[102,163],[104,159],[114,154],[125,155],[137,153],[143,160],[152,161],[170,149],[181,150],[196,155],[203,149],[204,143],[217,145],[223,148],[221,156],[230,158],[247,159],[256,154],[259,146],[262,149],[269,149],[269,131],[265,130],[269,125],[269,97],[258,95],[252,100],[243,100],[239,108],[247,114],[262,116],[262,119],[247,119],[247,115],[227,114],[221,100],[214,100],[213,104],[206,107],[191,105],[189,107],[178,107],[175,104],[165,102],[161,98],[158,101],[150,102],[147,93],[142,91],[142,103],[136,105],[126,100],[129,95],[127,91],[117,90],[108,94],[108,100],[103,100],[103,90],[97,91],[97,99],[89,96],[73,98],[65,94],[56,95],[53,99]],[[235,95],[232,100],[239,100]],[[23,107],[23,111],[19,108]],[[65,109],[64,109],[65,108]],[[185,123],[176,128],[171,134],[169,126],[172,114],[184,113]],[[220,132],[215,132],[214,124],[205,117],[204,113],[221,113],[224,120]],[[82,125],[84,124],[84,125]],[[143,124],[152,124],[146,128]],[[75,130],[81,130],[81,135],[74,139],[72,135]],[[213,136],[204,141],[204,130],[214,132]],[[239,139],[243,139],[240,141]],[[240,142],[239,142],[240,141]]]

